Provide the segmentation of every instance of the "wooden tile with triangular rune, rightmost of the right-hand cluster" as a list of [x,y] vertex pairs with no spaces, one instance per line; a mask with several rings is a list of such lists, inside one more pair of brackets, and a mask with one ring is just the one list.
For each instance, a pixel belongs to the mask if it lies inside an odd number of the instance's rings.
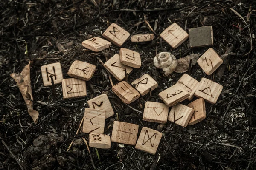
[[203,98],[209,103],[215,104],[221,94],[222,89],[222,85],[213,82],[212,80],[202,78],[198,89],[195,91],[195,96],[198,98]]

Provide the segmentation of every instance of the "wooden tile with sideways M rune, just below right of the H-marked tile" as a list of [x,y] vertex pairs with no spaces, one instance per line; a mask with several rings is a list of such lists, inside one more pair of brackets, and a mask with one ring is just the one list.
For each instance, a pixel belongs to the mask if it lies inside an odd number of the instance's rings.
[[85,97],[86,84],[84,80],[70,78],[62,80],[63,99]]

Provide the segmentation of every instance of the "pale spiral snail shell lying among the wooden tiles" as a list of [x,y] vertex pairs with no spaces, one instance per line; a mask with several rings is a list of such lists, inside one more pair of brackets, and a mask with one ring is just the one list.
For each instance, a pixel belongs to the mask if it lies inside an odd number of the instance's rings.
[[157,68],[168,68],[177,66],[177,60],[174,55],[169,52],[160,52],[154,57],[154,65]]

